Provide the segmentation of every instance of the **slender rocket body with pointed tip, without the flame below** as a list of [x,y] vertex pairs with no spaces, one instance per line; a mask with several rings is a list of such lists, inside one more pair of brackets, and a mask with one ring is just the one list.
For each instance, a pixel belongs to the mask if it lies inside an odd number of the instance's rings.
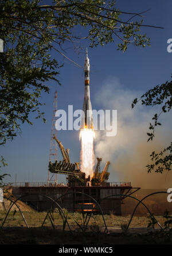
[[82,129],[93,129],[93,117],[92,117],[92,106],[90,101],[89,93],[89,59],[88,51],[86,51],[86,58],[84,63],[84,77],[85,77],[85,92],[84,92],[84,103],[83,103],[83,115],[81,116],[81,130]]

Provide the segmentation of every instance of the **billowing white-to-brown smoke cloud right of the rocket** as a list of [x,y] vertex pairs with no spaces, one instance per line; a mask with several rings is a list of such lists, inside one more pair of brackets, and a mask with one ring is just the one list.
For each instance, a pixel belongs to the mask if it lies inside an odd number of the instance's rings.
[[96,156],[103,158],[103,165],[106,161],[111,162],[111,181],[131,181],[132,186],[144,189],[171,188],[172,170],[148,174],[145,167],[151,163],[151,152],[159,152],[170,144],[170,114],[163,117],[163,125],[156,129],[153,142],[147,142],[148,124],[160,107],[155,109],[138,104],[131,109],[134,98],[142,93],[127,89],[114,77],[103,82],[95,102],[99,108],[118,111],[118,132],[114,137],[107,137],[105,131],[96,132]]

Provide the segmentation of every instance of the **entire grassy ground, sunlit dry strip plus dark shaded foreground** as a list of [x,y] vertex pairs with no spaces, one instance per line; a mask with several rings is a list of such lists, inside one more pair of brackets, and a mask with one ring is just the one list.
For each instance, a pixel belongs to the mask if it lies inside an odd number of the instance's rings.
[[[11,211],[0,232],[0,244],[171,244],[171,232],[162,232],[158,225],[155,228],[147,228],[150,221],[148,217],[134,217],[128,232],[125,232],[126,224],[131,216],[104,215],[108,232],[104,231],[104,221],[101,215],[91,217],[88,231],[83,227],[83,215],[81,213],[68,213],[68,223],[72,234],[63,223],[58,212],[52,214],[53,226],[49,218],[41,227],[46,212],[23,212],[29,228],[19,212]],[[2,226],[6,212],[0,212],[0,225]],[[65,216],[67,213],[65,212]],[[165,219],[156,216],[163,226]]]

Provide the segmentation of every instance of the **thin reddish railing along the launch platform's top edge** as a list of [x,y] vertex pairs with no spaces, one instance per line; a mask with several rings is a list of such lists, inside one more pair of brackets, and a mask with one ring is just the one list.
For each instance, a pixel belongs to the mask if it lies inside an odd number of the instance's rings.
[[[57,182],[57,183],[50,183],[50,182],[14,182],[9,184],[14,187],[33,187],[33,186],[41,186],[41,187],[58,187],[58,186],[67,186],[67,182]],[[110,187],[121,187],[121,186],[128,186],[131,187],[131,182],[107,182],[101,186],[110,186]]]

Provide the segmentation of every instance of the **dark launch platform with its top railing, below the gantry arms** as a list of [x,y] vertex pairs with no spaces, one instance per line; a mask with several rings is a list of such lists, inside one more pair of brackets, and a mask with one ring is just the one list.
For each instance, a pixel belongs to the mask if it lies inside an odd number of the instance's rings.
[[103,186],[72,186],[64,184],[44,184],[44,183],[16,183],[10,186],[11,193],[15,198],[21,197],[30,207],[37,211],[47,211],[56,208],[57,205],[48,196],[57,201],[61,208],[69,212],[93,211],[100,212],[100,205],[103,213],[113,212],[121,215],[121,205],[124,199],[140,188],[132,188],[130,182],[107,182]]

